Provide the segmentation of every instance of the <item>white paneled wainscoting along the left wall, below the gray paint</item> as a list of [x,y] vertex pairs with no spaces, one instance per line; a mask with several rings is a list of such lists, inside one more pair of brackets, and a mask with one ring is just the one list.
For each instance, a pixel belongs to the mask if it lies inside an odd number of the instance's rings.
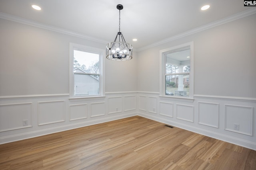
[[137,92],[78,99],[69,94],[0,96],[0,144],[131,117],[137,115],[136,103]]

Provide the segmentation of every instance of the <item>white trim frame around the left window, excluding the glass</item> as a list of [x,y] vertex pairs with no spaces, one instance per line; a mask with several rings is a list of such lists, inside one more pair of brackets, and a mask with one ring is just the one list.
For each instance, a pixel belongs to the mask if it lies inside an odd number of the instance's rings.
[[[75,96],[74,94],[74,50],[86,51],[99,54],[100,65],[100,94],[92,96]],[[69,96],[70,99],[105,97],[105,51],[85,45],[69,44]]]

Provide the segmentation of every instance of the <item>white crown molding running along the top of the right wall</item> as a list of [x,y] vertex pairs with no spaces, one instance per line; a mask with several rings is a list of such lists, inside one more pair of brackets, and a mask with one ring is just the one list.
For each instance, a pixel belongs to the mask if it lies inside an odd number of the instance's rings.
[[212,28],[212,27],[216,27],[218,25],[222,25],[224,23],[228,23],[230,21],[234,21],[234,20],[238,20],[240,18],[244,18],[246,16],[250,16],[252,14],[256,14],[256,8],[251,8],[250,10],[246,10],[246,11],[243,11],[243,12],[240,12],[240,13],[237,13],[237,14],[234,14],[232,16],[229,16],[229,17],[226,17],[226,18],[223,18],[221,20],[218,20],[218,21],[214,21],[212,23],[209,23],[209,24],[206,24],[206,25],[203,25],[201,27],[197,27],[195,29],[191,29],[189,31],[186,31],[184,33],[180,33],[180,34],[177,34],[177,35],[174,35],[172,37],[169,37],[169,38],[166,38],[166,39],[163,39],[161,41],[157,41],[155,43],[152,43],[150,45],[147,45],[145,47],[142,47],[142,48],[139,48],[137,49],[137,51],[142,51],[142,50],[145,50],[145,49],[149,49],[149,48],[152,48],[152,47],[155,47],[157,45],[161,45],[161,44],[164,44],[164,43],[168,43],[170,41],[174,41],[176,39],[180,39],[182,37],[186,37],[188,35],[191,35],[191,34],[194,34],[194,33],[197,33],[197,32],[200,32],[200,31],[204,31],[206,29],[209,29],[209,28]]

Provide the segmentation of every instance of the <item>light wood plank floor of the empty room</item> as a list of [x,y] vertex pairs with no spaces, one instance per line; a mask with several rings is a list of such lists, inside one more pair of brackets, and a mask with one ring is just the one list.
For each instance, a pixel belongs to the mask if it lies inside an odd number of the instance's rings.
[[0,169],[256,170],[256,151],[135,116],[0,145]]

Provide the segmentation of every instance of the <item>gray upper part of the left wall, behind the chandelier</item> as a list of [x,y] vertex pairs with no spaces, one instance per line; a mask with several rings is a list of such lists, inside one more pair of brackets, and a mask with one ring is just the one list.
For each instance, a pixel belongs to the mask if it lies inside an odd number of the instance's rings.
[[[69,43],[106,47],[4,19],[0,27],[0,96],[68,94]],[[137,90],[136,60],[136,52],[127,62],[106,60],[106,92]]]

